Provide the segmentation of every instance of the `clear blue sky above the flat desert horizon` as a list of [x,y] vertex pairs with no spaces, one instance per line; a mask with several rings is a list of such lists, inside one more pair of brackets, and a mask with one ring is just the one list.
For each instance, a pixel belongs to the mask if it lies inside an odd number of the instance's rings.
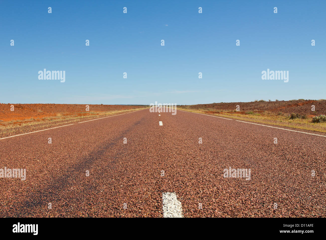
[[[325,99],[325,9],[326,1],[1,1],[0,102]],[[66,71],[66,81],[39,80],[44,68]],[[289,71],[289,82],[262,80],[268,68]]]

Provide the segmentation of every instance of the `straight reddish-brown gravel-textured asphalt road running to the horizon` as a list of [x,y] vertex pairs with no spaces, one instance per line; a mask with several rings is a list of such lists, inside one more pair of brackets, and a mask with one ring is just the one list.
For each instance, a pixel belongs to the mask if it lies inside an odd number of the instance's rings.
[[0,168],[26,168],[0,216],[325,217],[325,134],[280,128],[144,109],[0,139]]

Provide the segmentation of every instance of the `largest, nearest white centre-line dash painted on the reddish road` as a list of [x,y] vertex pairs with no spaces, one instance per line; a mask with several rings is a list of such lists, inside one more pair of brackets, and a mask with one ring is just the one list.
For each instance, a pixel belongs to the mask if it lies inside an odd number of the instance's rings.
[[182,205],[175,193],[163,193],[163,216],[183,217]]

